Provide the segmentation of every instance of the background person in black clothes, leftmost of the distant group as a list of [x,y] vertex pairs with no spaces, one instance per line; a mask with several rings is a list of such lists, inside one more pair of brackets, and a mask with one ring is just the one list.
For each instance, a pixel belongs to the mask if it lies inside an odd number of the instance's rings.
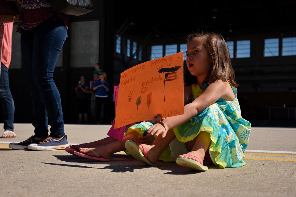
[[84,123],[87,123],[87,92],[89,91],[89,84],[86,82],[86,77],[81,76],[80,81],[75,87],[75,91],[77,94],[76,100],[77,100],[77,107],[78,107],[78,124],[82,123],[82,116],[84,115]]

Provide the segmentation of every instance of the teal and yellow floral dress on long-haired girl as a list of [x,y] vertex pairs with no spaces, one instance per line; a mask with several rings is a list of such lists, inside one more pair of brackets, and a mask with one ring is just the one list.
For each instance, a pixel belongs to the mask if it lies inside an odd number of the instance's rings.
[[[207,84],[203,86],[203,89],[206,88]],[[191,89],[192,100],[203,93],[198,84],[191,85]],[[232,87],[232,90],[237,95],[237,89]],[[232,101],[220,98],[186,123],[173,128],[173,131],[181,142],[193,140],[200,131],[207,131],[211,137],[209,154],[215,165],[220,168],[246,165],[243,159],[251,123],[242,118],[237,97]]]

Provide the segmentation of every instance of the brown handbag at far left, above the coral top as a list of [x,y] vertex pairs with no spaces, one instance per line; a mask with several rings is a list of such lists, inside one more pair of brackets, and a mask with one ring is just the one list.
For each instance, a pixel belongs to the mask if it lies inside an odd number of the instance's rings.
[[0,22],[17,22],[20,11],[14,1],[0,0]]

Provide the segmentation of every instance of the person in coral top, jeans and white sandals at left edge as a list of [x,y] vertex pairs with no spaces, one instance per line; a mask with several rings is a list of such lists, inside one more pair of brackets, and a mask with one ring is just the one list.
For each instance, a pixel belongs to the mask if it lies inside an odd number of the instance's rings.
[[[0,23],[0,100],[2,104],[2,115],[4,120],[4,133],[1,138],[14,138],[13,119],[15,115],[15,103],[9,88],[8,68],[12,53],[12,29],[13,22]],[[2,47],[2,48],[1,48]]]

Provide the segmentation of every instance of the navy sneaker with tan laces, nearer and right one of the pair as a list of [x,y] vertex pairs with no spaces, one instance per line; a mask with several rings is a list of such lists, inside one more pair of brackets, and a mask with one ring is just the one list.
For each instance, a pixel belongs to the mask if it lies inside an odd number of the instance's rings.
[[36,144],[28,145],[28,149],[36,151],[65,150],[67,146],[69,144],[66,135],[59,141],[54,141],[52,136],[47,136],[44,140]]

